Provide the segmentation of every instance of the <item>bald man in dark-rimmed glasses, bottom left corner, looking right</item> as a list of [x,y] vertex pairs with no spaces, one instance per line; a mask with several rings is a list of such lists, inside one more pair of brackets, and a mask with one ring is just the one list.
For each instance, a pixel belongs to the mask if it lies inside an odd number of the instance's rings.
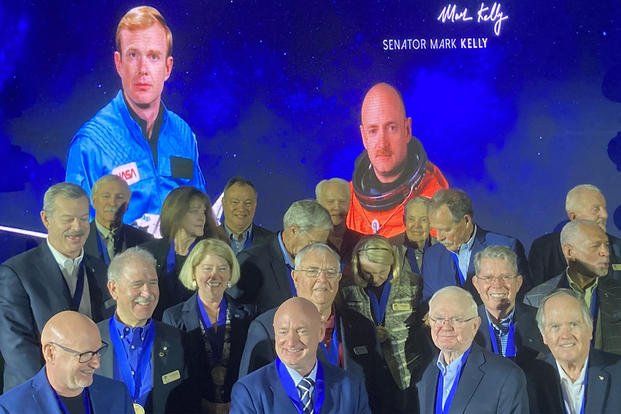
[[0,412],[134,412],[123,383],[94,374],[108,344],[101,341],[97,325],[87,316],[57,313],[43,327],[41,343],[45,366],[0,396]]

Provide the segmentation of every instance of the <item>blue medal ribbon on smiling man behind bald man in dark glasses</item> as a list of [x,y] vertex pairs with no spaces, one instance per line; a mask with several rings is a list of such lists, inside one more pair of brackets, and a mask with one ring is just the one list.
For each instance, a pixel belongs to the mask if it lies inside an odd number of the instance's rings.
[[121,342],[121,337],[114,326],[114,318],[110,318],[109,323],[110,340],[112,341],[112,348],[114,349],[115,362],[119,367],[123,382],[127,385],[129,394],[132,396],[132,400],[136,401],[142,392],[140,389],[142,386],[142,380],[149,367],[151,361],[151,352],[153,350],[153,340],[155,339],[155,325],[153,323],[147,328],[147,334],[144,339],[144,345],[142,347],[142,354],[138,360],[138,366],[135,369],[135,375],[132,377],[132,367],[129,364],[129,358],[125,353],[125,347]]

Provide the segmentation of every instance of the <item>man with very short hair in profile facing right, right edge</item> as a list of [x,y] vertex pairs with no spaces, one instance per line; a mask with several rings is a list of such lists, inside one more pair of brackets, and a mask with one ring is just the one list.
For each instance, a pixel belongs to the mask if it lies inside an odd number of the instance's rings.
[[539,307],[543,298],[559,288],[578,293],[591,312],[593,345],[596,349],[621,355],[621,282],[608,274],[608,236],[593,221],[573,220],[561,231],[561,246],[567,269],[526,294],[526,304]]

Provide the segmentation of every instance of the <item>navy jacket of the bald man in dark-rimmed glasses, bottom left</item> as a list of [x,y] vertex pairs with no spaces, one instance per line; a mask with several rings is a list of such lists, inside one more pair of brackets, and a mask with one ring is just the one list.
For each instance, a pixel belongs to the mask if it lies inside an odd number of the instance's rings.
[[[132,401],[125,384],[99,375],[93,375],[88,387],[93,414],[133,414]],[[62,414],[56,395],[42,368],[27,382],[0,396],[0,413],[10,414]]]

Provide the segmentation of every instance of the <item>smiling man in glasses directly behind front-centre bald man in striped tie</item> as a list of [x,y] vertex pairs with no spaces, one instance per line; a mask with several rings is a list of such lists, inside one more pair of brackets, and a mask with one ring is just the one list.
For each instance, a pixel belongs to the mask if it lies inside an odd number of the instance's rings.
[[[373,411],[387,403],[381,390],[382,362],[373,324],[357,312],[335,303],[341,273],[339,257],[323,243],[311,244],[295,258],[293,281],[300,297],[310,300],[326,323],[326,335],[319,345],[318,358],[353,375],[366,378]],[[259,315],[248,330],[240,364],[240,378],[276,359],[274,314],[276,308]],[[385,410],[384,410],[385,411]]]

